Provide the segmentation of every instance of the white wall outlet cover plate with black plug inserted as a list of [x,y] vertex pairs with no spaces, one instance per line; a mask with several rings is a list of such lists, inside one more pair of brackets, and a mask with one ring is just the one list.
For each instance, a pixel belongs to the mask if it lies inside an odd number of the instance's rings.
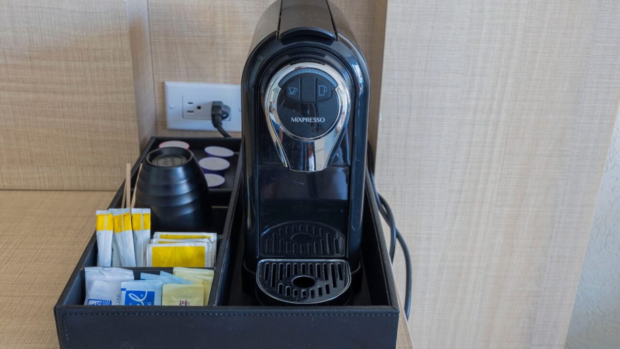
[[222,122],[224,130],[241,132],[241,86],[236,84],[184,83],[166,81],[166,124],[169,130],[216,131],[207,119],[185,119],[183,97],[192,97],[210,107],[213,101],[222,101],[231,108],[228,119]]

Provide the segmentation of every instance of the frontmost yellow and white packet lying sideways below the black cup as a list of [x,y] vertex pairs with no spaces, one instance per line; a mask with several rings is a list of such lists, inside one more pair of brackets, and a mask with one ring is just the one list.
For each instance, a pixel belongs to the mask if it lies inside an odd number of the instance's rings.
[[149,243],[146,264],[159,267],[212,267],[211,248],[211,242]]

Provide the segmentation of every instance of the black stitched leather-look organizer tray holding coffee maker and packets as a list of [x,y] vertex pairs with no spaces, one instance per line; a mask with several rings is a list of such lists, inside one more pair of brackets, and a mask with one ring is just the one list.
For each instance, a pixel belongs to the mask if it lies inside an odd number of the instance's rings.
[[[149,150],[170,139],[184,140],[198,160],[203,148],[241,148],[240,138],[151,138]],[[236,153],[222,188],[211,189],[218,235],[213,289],[208,306],[84,306],[84,266],[96,264],[95,234],[54,307],[61,348],[394,348],[399,320],[389,257],[366,180],[360,291],[347,306],[260,306],[242,290],[241,158]],[[120,206],[123,186],[110,207]],[[128,268],[157,273],[171,268]]]

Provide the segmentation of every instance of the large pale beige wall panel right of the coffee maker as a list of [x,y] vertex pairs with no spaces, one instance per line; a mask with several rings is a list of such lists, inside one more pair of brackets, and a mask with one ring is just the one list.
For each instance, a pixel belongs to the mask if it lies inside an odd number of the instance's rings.
[[618,18],[618,1],[388,2],[377,176],[413,257],[415,347],[564,346]]

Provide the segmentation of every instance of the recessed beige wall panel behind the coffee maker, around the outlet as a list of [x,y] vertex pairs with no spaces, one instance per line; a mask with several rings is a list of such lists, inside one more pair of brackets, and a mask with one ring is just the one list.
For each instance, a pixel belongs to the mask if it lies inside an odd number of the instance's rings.
[[[218,137],[218,132],[166,128],[164,82],[241,83],[254,28],[260,15],[272,2],[149,1],[159,135]],[[370,64],[374,39],[374,2],[338,0],[334,3],[346,14]]]

